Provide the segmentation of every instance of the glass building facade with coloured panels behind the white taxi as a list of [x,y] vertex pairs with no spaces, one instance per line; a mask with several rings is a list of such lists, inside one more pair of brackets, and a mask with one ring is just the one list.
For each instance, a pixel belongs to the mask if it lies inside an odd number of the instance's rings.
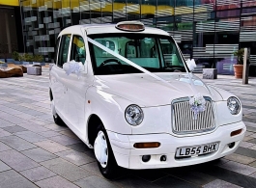
[[26,51],[45,62],[53,61],[65,27],[140,20],[170,33],[185,58],[220,74],[233,74],[233,52],[249,47],[250,74],[256,76],[255,0],[21,0],[20,6]]

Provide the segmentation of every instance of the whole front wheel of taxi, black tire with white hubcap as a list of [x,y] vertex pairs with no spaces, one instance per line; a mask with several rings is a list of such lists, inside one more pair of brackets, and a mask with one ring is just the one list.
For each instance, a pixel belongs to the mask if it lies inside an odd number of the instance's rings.
[[108,179],[117,177],[120,168],[117,165],[115,156],[107,138],[106,131],[102,124],[100,124],[98,127],[98,134],[95,139],[94,151],[98,160],[100,173]]

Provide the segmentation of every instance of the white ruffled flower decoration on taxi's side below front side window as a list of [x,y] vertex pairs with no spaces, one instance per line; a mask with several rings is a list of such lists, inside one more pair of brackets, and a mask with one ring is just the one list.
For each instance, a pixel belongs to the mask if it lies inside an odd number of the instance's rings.
[[85,70],[84,65],[81,62],[75,62],[72,60],[71,62],[67,62],[63,65],[63,69],[66,71],[68,75],[71,73],[79,74]]

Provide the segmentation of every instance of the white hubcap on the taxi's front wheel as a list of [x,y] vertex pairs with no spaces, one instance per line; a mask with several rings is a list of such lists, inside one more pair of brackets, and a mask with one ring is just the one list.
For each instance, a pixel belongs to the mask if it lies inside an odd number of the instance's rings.
[[105,168],[108,160],[108,149],[104,133],[100,130],[95,140],[95,156],[100,162],[101,167]]

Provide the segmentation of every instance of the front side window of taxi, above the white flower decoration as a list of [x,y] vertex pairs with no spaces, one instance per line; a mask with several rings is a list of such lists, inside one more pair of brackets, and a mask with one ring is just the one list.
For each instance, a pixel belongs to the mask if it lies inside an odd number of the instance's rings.
[[80,36],[73,36],[71,43],[71,60],[82,62],[86,59],[84,40]]

